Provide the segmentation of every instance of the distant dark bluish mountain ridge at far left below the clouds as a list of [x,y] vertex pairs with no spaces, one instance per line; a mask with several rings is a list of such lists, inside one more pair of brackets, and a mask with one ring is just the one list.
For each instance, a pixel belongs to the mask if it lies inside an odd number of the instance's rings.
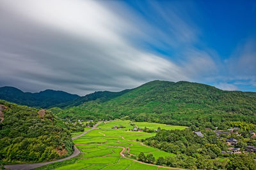
[[44,90],[42,92],[22,92],[15,87],[0,87],[0,99],[26,106],[48,108],[52,105],[72,101],[79,97],[63,91]]

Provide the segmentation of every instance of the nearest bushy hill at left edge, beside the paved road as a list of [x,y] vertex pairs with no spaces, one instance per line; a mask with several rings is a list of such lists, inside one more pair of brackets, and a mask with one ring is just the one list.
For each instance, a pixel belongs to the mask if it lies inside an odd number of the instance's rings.
[[51,112],[0,100],[0,162],[42,162],[72,154],[66,125]]

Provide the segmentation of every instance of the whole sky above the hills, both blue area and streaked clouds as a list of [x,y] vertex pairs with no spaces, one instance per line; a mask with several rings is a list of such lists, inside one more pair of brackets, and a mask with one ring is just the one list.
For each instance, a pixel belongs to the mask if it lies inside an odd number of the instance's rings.
[[84,96],[152,80],[256,92],[256,1],[0,1],[0,87]]

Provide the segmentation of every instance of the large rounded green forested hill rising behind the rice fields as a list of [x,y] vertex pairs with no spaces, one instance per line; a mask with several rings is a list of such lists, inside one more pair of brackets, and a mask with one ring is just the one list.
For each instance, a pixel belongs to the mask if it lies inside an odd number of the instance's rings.
[[225,120],[256,124],[253,92],[225,91],[200,83],[150,81],[109,101],[89,101],[60,112],[60,117],[94,115],[167,124],[219,125]]

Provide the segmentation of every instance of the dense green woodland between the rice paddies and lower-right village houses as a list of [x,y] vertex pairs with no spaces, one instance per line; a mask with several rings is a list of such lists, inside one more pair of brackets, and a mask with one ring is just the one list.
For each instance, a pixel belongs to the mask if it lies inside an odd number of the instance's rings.
[[[239,139],[239,143],[235,147],[240,147],[241,152],[244,152],[247,146],[244,142],[247,140],[246,136],[244,137],[235,137]],[[247,142],[256,146],[252,139]],[[176,156],[159,157],[155,160],[154,158],[147,158],[148,155],[146,157],[141,153],[138,159],[143,162],[153,161],[159,165],[186,169],[256,169],[255,153],[221,153],[230,146],[225,142],[225,136],[217,138],[213,131],[204,131],[204,137],[200,137],[193,134],[190,129],[160,130],[156,136],[145,139],[144,143],[165,152],[175,153]]]

